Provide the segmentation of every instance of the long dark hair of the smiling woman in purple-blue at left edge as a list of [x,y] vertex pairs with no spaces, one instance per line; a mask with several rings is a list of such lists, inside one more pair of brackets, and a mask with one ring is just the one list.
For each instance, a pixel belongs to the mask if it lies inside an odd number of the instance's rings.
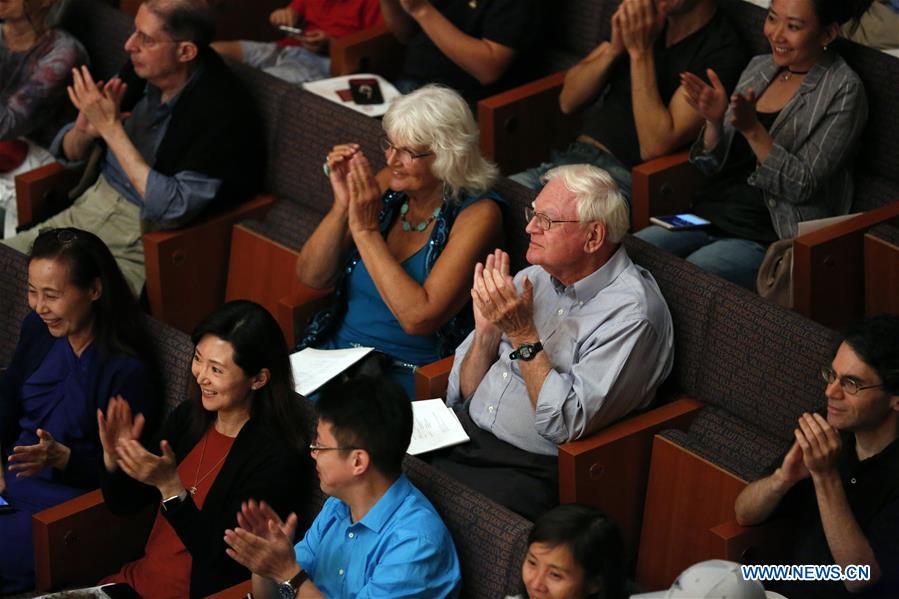
[[156,372],[143,313],[103,240],[81,229],[47,229],[31,246],[30,260],[39,259],[66,265],[69,282],[81,290],[87,291],[100,281],[101,292],[93,302],[91,327],[93,343],[101,357],[132,356],[150,372]]

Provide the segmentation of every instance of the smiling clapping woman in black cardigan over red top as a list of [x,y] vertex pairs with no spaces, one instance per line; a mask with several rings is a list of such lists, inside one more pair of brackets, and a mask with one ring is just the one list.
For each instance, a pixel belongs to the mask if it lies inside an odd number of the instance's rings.
[[144,557],[103,581],[142,597],[205,597],[246,580],[224,543],[241,504],[256,498],[287,514],[311,492],[307,426],[275,319],[253,302],[228,302],[191,337],[197,384],[150,446],[159,455],[137,440],[126,403],[97,415],[109,509],[159,504]]

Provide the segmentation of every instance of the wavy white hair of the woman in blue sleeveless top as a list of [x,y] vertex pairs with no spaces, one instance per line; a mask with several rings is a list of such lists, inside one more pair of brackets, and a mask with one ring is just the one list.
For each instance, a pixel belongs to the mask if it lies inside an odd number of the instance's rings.
[[426,85],[393,101],[384,131],[395,143],[425,146],[434,152],[431,172],[458,199],[464,189],[479,194],[493,187],[499,169],[481,154],[477,123],[455,91]]

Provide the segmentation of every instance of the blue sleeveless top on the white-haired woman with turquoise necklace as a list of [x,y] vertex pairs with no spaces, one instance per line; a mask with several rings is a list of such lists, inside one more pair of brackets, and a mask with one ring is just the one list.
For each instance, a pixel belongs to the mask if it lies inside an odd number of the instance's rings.
[[[431,237],[402,267],[420,285],[430,274],[437,258],[446,247],[449,233],[458,215],[476,201],[489,198],[505,205],[495,192],[477,196],[463,194],[460,202],[444,200],[443,209],[434,222]],[[387,236],[390,226],[399,216],[406,194],[388,190],[384,207],[378,216],[381,234]],[[304,347],[343,348],[353,345],[375,347],[395,360],[409,365],[429,364],[455,351],[456,346],[474,326],[471,308],[466,306],[432,335],[408,335],[381,299],[381,294],[354,248],[337,285],[333,306],[319,312],[306,328],[297,349]]]

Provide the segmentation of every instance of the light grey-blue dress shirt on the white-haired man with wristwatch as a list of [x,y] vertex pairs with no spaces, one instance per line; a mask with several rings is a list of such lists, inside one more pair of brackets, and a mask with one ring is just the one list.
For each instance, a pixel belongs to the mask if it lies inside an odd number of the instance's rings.
[[[503,335],[496,362],[468,403],[472,421],[519,449],[557,455],[558,445],[608,426],[646,407],[674,362],[668,305],[652,275],[624,247],[599,270],[565,287],[540,266],[515,276],[521,293],[534,286],[534,323],[553,365],[535,410],[515,349]],[[456,350],[447,404],[463,398],[459,369],[474,331]]]

